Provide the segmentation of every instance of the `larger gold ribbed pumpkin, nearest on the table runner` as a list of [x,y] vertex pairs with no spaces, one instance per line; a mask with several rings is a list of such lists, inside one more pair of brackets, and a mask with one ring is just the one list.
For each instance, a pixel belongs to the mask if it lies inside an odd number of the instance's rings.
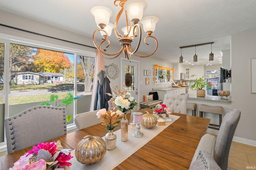
[[90,165],[100,161],[106,150],[106,142],[101,137],[87,135],[78,143],[75,156],[78,162]]

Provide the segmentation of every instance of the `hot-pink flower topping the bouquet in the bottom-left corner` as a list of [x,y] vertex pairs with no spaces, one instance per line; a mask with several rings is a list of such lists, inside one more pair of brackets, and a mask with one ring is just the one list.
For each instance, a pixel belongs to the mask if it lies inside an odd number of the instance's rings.
[[37,146],[33,146],[33,149],[30,150],[28,153],[33,154],[34,152],[36,152],[36,154],[38,154],[38,150],[40,149],[48,150],[50,154],[52,154],[52,156],[54,155],[54,153],[58,152],[57,145],[55,142],[51,142],[51,143],[45,142],[45,143],[38,143]]

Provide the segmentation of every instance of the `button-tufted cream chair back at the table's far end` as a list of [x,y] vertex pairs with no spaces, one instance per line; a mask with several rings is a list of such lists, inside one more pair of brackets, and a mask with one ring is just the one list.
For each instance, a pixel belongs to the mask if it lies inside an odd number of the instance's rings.
[[188,96],[185,95],[165,94],[163,104],[170,107],[174,113],[186,114],[187,98]]

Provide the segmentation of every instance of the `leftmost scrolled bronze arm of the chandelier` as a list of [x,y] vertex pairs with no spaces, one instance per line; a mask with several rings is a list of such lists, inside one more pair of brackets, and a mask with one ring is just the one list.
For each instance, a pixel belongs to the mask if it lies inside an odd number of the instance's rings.
[[[96,34],[97,31],[104,31],[104,32],[107,34],[106,38],[103,38],[102,41],[100,42],[100,47],[97,45],[96,40],[95,40],[95,34]],[[108,48],[109,45],[110,45],[110,41],[108,40],[108,33],[107,33],[104,29],[96,29],[96,30],[94,31],[94,33],[93,33],[92,39],[93,39],[93,43],[94,43],[95,47],[100,51],[100,53],[105,54],[105,55],[108,55],[108,56],[116,55],[116,57],[117,57],[118,55],[120,55],[120,53],[121,53],[121,52],[123,51],[123,49],[124,49],[124,47],[121,46],[121,49],[120,49],[117,53],[114,53],[114,54],[109,54],[109,53],[104,52],[104,49],[102,49],[102,43],[104,43],[105,41],[108,42],[108,45],[106,46],[106,48]],[[102,55],[102,57],[104,57],[104,56]],[[114,57],[114,58],[116,58],[116,57]],[[108,59],[107,57],[104,57],[104,58]],[[114,58],[113,58],[113,59],[114,59]],[[109,58],[109,59],[110,59],[110,58]]]

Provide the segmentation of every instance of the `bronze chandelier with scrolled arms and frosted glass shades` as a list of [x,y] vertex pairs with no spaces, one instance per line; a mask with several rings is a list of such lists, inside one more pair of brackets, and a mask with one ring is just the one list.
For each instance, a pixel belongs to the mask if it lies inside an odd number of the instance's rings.
[[[137,57],[149,57],[153,55],[156,52],[156,49],[158,48],[158,41],[156,37],[152,36],[151,34],[156,28],[156,23],[159,21],[157,17],[154,16],[147,16],[142,18],[143,16],[143,10],[146,8],[147,4],[144,0],[115,0],[114,5],[118,6],[116,2],[119,2],[119,6],[121,7],[121,10],[119,11],[118,15],[116,16],[115,24],[112,24],[109,22],[109,18],[112,16],[112,11],[104,6],[94,6],[91,9],[91,13],[95,18],[96,24],[99,27],[99,29],[96,29],[93,33],[93,42],[95,47],[100,51],[100,54],[102,57],[106,59],[114,59],[120,55],[120,53],[124,53],[124,57],[129,60],[131,59],[132,55],[135,55]],[[122,31],[124,34],[122,35],[119,33],[117,29],[118,21],[120,19],[120,16],[124,12],[125,19],[126,19],[126,25],[122,27]],[[139,22],[143,25],[144,31],[147,33],[147,36],[144,39],[144,43],[146,45],[149,45],[146,41],[148,37],[153,38],[156,41],[156,48],[150,55],[138,55],[136,52],[138,51],[140,47],[140,41],[142,36],[141,26]],[[102,48],[102,44],[104,42],[107,42],[107,47],[110,45],[110,41],[108,37],[110,37],[112,29],[114,28],[114,33],[116,35],[116,38],[118,39],[118,42],[121,45],[121,49],[117,53],[109,54],[106,53],[105,50]],[[101,35],[103,36],[103,39],[100,43],[100,45],[97,45],[95,40],[95,34],[96,32],[100,31]],[[137,35],[138,34],[138,35]],[[138,44],[134,51],[132,51],[132,40],[134,37],[138,36]],[[106,56],[107,55],[107,56]],[[130,55],[130,57],[128,57]]]

